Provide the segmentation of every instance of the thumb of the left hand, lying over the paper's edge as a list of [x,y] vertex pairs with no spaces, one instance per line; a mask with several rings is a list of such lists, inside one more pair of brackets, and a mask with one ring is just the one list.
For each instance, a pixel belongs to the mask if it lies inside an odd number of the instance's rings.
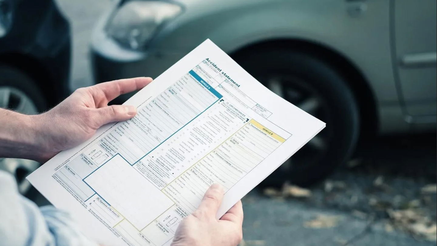
[[131,119],[133,116],[136,115],[136,108],[132,105],[111,105],[98,108],[97,112],[97,123],[100,126],[103,126],[104,124],[110,122]]

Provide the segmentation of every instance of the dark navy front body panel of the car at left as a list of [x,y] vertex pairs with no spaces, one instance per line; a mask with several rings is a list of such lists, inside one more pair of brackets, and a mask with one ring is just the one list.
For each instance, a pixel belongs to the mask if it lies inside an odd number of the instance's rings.
[[0,38],[0,62],[44,84],[49,103],[69,95],[70,27],[53,0],[17,0],[10,31]]

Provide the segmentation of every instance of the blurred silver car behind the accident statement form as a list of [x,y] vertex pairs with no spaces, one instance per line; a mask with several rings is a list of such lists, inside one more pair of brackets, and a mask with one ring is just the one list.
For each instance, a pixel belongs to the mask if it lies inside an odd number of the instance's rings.
[[212,39],[326,122],[271,181],[308,185],[377,134],[436,129],[435,0],[118,0],[92,38],[96,82],[156,77]]

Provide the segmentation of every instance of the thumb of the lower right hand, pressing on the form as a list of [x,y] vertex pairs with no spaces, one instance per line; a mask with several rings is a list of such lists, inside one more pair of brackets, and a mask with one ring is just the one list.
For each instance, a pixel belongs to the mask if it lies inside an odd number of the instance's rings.
[[217,214],[218,208],[222,204],[223,194],[223,187],[217,183],[213,184],[206,191],[196,212],[201,216],[206,215],[215,218],[215,214]]

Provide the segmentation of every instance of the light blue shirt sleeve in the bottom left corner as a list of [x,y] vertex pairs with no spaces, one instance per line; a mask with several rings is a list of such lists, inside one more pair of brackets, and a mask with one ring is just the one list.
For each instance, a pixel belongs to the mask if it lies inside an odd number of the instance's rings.
[[13,176],[0,171],[0,242],[5,246],[97,246],[68,213],[39,208],[18,193]]

